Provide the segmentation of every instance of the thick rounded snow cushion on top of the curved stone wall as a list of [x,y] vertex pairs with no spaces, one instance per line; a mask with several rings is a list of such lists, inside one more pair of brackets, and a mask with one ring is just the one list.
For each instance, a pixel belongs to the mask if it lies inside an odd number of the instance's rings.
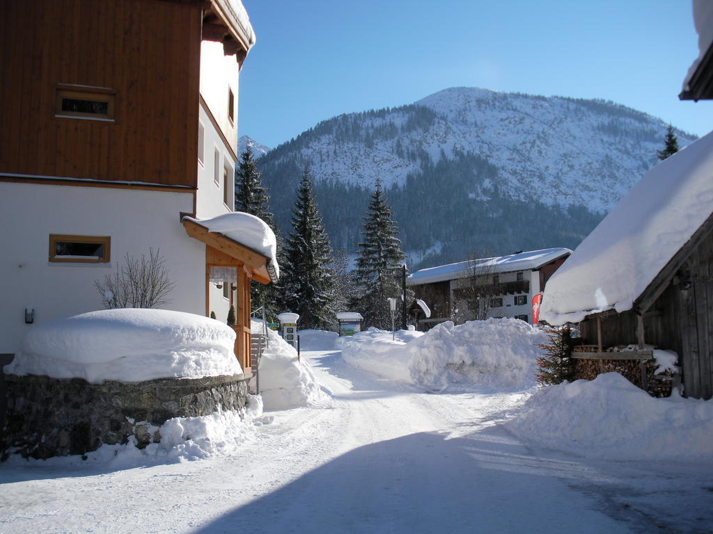
[[232,328],[202,315],[102,310],[36,325],[4,370],[93,383],[237,375],[234,345]]

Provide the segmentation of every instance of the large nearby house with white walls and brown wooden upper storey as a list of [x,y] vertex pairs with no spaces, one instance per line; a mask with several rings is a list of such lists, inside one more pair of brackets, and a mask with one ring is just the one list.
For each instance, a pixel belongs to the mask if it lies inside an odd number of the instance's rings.
[[201,224],[234,209],[238,80],[255,43],[240,0],[3,11],[0,353],[37,323],[101,309],[95,281],[150,249],[175,283],[166,308],[225,320],[235,303],[245,327],[249,279],[269,282],[270,258],[235,225],[227,237]]

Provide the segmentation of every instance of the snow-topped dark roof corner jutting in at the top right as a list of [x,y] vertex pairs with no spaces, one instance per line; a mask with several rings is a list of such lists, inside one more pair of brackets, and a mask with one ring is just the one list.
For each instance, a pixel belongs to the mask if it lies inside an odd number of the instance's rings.
[[693,23],[698,33],[698,57],[683,80],[682,100],[713,98],[713,2],[693,0]]

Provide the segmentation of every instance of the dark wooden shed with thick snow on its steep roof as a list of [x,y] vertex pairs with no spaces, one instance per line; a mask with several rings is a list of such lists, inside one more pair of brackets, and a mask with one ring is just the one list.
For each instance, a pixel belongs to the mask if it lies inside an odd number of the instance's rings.
[[555,273],[540,313],[580,323],[589,358],[673,350],[683,393],[713,397],[713,132],[635,185]]

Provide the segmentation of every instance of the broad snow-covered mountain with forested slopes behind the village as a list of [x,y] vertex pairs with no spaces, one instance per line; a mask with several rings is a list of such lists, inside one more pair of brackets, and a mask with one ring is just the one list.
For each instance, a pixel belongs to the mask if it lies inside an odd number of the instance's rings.
[[[451,88],[320,122],[260,167],[284,228],[309,165],[334,246],[356,250],[380,178],[404,248],[426,263],[458,261],[476,248],[576,246],[658,161],[665,132],[603,100]],[[682,147],[694,140],[675,132]]]

